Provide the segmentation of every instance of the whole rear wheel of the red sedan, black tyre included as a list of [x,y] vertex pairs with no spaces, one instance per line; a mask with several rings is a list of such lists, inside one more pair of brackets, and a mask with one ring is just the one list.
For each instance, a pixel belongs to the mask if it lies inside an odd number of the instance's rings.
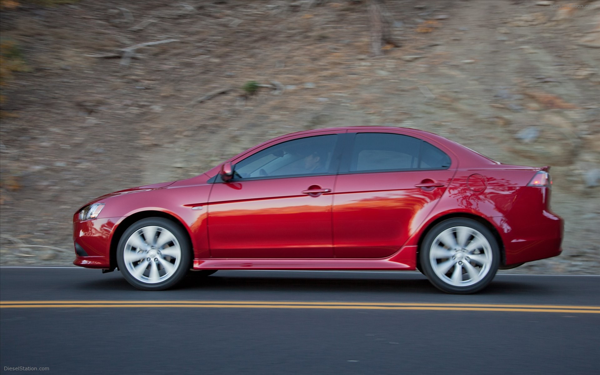
[[447,293],[484,289],[496,275],[500,249],[487,227],[467,218],[442,221],[425,236],[419,253],[431,283]]

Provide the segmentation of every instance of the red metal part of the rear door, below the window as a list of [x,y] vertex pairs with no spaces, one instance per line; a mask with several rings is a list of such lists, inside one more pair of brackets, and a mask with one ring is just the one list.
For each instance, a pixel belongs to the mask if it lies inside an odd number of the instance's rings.
[[[334,196],[337,258],[383,258],[394,254],[425,221],[454,170],[339,175]],[[415,187],[427,179],[444,187]]]

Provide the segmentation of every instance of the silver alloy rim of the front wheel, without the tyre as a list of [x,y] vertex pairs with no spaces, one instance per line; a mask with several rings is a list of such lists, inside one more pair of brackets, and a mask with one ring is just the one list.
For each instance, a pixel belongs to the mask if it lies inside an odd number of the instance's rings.
[[129,236],[123,260],[127,271],[136,280],[156,284],[172,277],[179,268],[181,246],[169,230],[146,226]]

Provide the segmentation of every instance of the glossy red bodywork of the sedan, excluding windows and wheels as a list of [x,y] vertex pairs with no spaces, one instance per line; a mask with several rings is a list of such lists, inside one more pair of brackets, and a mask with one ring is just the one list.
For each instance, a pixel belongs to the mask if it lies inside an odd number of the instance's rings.
[[[77,254],[74,264],[115,268],[111,252],[124,228],[141,215],[157,213],[190,235],[194,269],[415,269],[419,241],[433,224],[452,215],[476,217],[495,229],[505,265],[560,254],[563,221],[550,211],[550,188],[527,186],[542,168],[497,163],[436,134],[395,127],[310,130],[263,142],[226,162],[238,163],[287,140],[361,132],[423,139],[446,152],[451,166],[209,181],[220,164],[191,179],[89,202],[105,206],[92,220],[74,215],[74,241],[87,254]],[[415,186],[430,181],[440,186]],[[311,187],[331,191],[302,193]]]

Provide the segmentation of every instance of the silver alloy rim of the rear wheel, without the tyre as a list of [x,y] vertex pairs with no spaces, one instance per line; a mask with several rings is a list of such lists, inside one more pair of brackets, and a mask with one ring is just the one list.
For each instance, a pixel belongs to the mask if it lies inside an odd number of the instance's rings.
[[490,272],[490,242],[476,229],[455,226],[443,230],[431,243],[429,261],[439,280],[452,286],[470,286]]

